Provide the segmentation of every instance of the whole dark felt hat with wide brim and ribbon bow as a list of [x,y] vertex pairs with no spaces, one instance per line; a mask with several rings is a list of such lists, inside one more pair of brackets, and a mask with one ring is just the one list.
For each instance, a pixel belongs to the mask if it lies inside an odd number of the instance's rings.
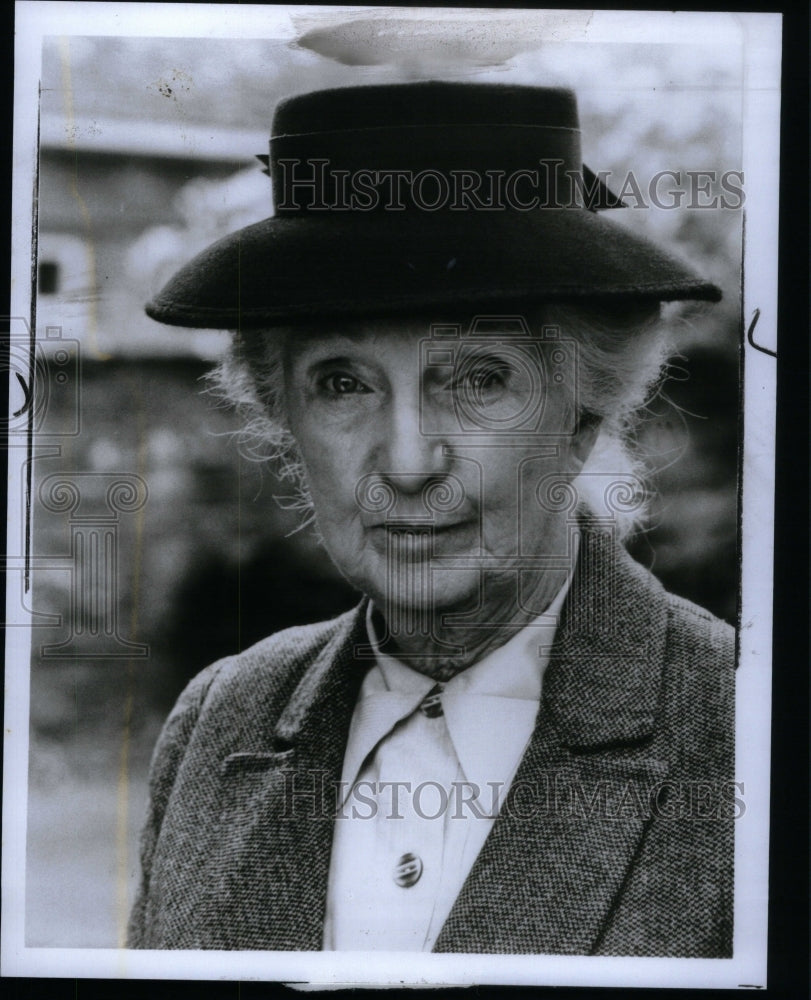
[[621,202],[582,164],[569,90],[317,91],[279,105],[260,159],[273,216],[186,264],[147,305],[153,319],[225,329],[437,305],[721,297],[606,217]]

